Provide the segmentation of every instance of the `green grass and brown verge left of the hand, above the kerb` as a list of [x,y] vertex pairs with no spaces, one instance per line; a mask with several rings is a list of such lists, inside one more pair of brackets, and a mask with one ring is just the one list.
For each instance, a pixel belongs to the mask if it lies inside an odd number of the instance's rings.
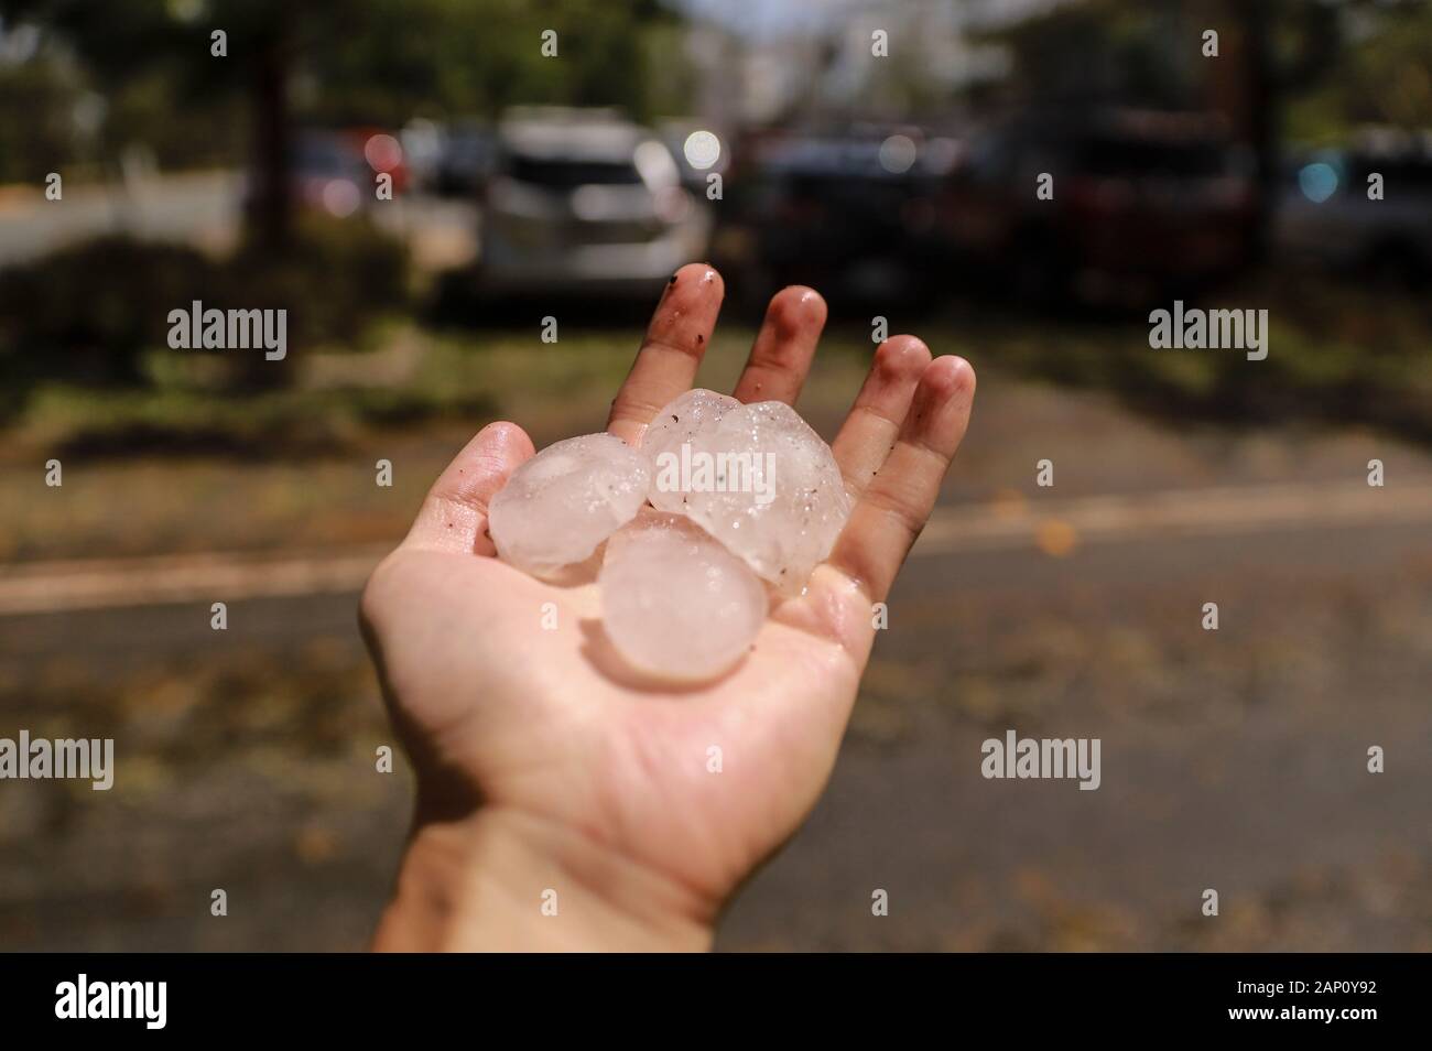
[[[702,382],[729,388],[750,338],[720,332]],[[294,388],[238,395],[172,367],[145,389],[43,388],[0,457],[0,561],[395,541],[484,424],[520,421],[538,445],[600,430],[639,342],[636,329],[571,326],[544,345],[536,329],[402,326],[371,354],[321,355]],[[811,415],[833,422],[862,371],[855,354],[826,355]],[[52,457],[60,488],[44,484]],[[374,484],[379,458],[391,487]]]

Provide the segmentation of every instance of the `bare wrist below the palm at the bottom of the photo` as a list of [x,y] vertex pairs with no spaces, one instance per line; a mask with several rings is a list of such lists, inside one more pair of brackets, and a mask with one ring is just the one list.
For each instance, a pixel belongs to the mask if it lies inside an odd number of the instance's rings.
[[705,951],[715,909],[558,822],[478,808],[414,823],[379,951]]

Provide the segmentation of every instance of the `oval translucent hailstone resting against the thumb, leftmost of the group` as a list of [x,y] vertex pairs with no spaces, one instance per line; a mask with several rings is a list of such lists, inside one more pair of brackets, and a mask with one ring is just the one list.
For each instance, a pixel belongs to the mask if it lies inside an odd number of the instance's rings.
[[513,471],[487,508],[503,561],[551,576],[586,561],[646,503],[644,455],[611,434],[584,434],[548,445]]

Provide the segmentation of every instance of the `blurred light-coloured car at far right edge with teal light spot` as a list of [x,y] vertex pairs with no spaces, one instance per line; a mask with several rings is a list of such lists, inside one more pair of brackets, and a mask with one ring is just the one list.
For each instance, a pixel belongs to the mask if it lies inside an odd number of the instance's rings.
[[[1369,196],[1382,176],[1380,199]],[[1289,261],[1418,285],[1432,276],[1432,137],[1376,136],[1287,165],[1274,246]]]

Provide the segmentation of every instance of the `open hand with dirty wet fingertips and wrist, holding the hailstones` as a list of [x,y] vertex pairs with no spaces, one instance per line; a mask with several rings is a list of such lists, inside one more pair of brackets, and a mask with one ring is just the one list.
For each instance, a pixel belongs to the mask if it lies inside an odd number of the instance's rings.
[[[692,387],[722,294],[705,265],[672,279],[613,401],[613,434],[639,444]],[[736,398],[793,402],[825,312],[811,289],[778,294]],[[544,583],[494,557],[487,503],[533,444],[514,424],[483,428],[364,591],[364,633],[417,773],[375,946],[709,946],[722,904],[829,779],[871,607],[934,507],[974,389],[961,358],[931,359],[914,336],[881,344],[832,445],[856,500],[845,531],[805,594],[775,601],[750,654],[700,686],[626,672],[596,584]]]

